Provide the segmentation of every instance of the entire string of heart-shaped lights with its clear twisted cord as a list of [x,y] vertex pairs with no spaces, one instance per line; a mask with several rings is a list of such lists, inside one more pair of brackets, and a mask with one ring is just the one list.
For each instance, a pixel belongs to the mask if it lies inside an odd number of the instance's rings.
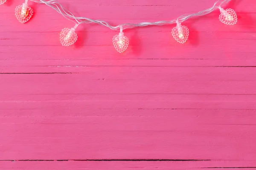
[[[58,13],[62,14],[63,17],[65,17],[67,20],[70,20],[76,24],[73,28],[62,29],[60,34],[61,45],[69,46],[69,45],[73,45],[76,42],[78,37],[75,31],[80,24],[96,23],[96,24],[108,27],[112,30],[118,30],[118,29],[120,30],[120,33],[113,37],[114,48],[116,48],[116,51],[118,51],[119,53],[124,52],[129,45],[128,37],[124,36],[124,33],[122,32],[124,29],[127,29],[127,28],[152,26],[152,25],[163,26],[165,24],[176,23],[176,27],[172,28],[172,36],[177,42],[184,43],[186,42],[186,40],[188,40],[189,28],[187,28],[186,26],[182,26],[181,23],[188,20],[191,17],[203,16],[211,13],[212,11],[218,8],[221,13],[219,16],[219,20],[221,21],[221,23],[224,23],[227,25],[234,25],[237,23],[236,12],[231,8],[224,10],[221,7],[227,4],[230,0],[218,0],[217,2],[214,3],[214,5],[211,8],[205,9],[203,11],[199,11],[198,13],[195,13],[195,14],[181,15],[175,20],[157,21],[153,23],[143,22],[143,23],[137,23],[137,24],[123,23],[118,26],[111,26],[111,24],[103,20],[92,20],[86,17],[75,17],[70,11],[65,9],[57,0],[30,0],[30,1],[35,3],[43,3],[47,6],[50,6],[51,8],[55,9]],[[5,2],[6,0],[0,0],[0,5]],[[217,6],[218,3],[219,5]],[[19,20],[20,23],[26,23],[32,17],[33,10],[28,6],[28,0],[25,0],[25,2],[22,5],[19,5],[15,8],[15,15],[17,20]]]

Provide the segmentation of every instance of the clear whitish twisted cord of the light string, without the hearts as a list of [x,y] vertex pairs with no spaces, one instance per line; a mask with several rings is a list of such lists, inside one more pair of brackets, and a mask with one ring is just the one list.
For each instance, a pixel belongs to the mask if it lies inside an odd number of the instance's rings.
[[82,24],[82,23],[96,23],[96,24],[108,27],[108,28],[110,28],[112,30],[117,30],[117,29],[120,29],[120,27],[122,27],[122,29],[127,29],[127,28],[152,26],[152,25],[163,26],[165,24],[176,23],[176,20],[178,20],[179,23],[182,23],[182,22],[188,20],[191,17],[202,16],[202,15],[209,14],[212,11],[214,11],[215,9],[217,9],[218,7],[227,4],[230,0],[218,0],[218,1],[216,1],[214,3],[214,5],[211,8],[205,9],[203,11],[199,11],[199,12],[197,12],[195,14],[184,14],[184,15],[181,15],[180,17],[178,17],[177,19],[170,20],[170,21],[156,21],[156,22],[152,22],[152,23],[150,23],[150,22],[143,22],[143,23],[137,23],[137,24],[123,23],[123,24],[120,24],[118,26],[111,26],[108,22],[103,21],[103,20],[93,20],[93,19],[90,19],[90,18],[87,18],[87,17],[76,17],[70,11],[65,9],[61,5],[61,3],[59,3],[57,0],[31,0],[31,1],[35,2],[35,3],[44,3],[47,6],[52,7],[58,13],[62,14],[65,18],[67,18],[67,20],[70,20],[73,23],[76,23],[76,27],[79,24]]

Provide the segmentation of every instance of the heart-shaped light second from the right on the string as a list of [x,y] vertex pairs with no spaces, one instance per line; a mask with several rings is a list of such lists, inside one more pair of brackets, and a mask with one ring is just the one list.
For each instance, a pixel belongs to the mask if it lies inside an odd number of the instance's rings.
[[186,26],[181,26],[181,24],[176,21],[177,26],[172,28],[172,36],[177,42],[184,43],[188,40],[189,29]]

